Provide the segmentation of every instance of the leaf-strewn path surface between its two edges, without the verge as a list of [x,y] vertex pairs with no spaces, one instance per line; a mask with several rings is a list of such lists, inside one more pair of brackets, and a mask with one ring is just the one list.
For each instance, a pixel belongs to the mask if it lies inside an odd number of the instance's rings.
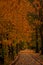
[[32,50],[21,51],[19,53],[19,60],[15,65],[43,65],[37,59],[35,59],[33,53],[34,52]]

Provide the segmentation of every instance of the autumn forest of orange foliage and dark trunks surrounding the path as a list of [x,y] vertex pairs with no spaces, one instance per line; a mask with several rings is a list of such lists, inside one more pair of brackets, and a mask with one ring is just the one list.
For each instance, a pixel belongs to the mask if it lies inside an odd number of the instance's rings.
[[0,0],[0,65],[25,49],[43,57],[43,0]]

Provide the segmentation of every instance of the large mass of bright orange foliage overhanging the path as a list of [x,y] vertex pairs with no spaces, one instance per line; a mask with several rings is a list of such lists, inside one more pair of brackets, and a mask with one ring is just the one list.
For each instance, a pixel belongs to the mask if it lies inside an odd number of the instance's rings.
[[27,0],[21,0],[20,3],[18,3],[18,0],[0,1],[0,15],[15,25],[14,39],[17,37],[18,40],[31,40],[29,37],[31,37],[32,28],[26,20],[28,11],[35,12],[35,9]]

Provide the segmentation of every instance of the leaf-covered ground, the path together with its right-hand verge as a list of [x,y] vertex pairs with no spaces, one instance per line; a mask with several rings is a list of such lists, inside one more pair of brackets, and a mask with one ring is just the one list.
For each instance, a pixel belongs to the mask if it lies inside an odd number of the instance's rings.
[[43,65],[43,56],[33,50],[22,50],[19,52],[18,61],[12,65]]

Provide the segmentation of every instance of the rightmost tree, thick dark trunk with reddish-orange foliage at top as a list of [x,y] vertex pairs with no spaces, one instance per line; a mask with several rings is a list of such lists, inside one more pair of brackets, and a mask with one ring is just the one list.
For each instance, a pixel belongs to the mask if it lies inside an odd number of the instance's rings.
[[[34,3],[36,0],[28,0],[33,8],[35,9],[35,13],[31,13],[32,15],[35,14],[33,17],[34,17],[34,20],[39,20],[40,21],[40,36],[41,36],[41,54],[43,54],[43,0],[37,0],[36,3]],[[37,15],[37,16],[36,16]],[[35,21],[34,21],[35,22]],[[37,21],[36,21],[37,22]],[[37,30],[37,29],[36,29]],[[38,37],[38,36],[37,36]]]

